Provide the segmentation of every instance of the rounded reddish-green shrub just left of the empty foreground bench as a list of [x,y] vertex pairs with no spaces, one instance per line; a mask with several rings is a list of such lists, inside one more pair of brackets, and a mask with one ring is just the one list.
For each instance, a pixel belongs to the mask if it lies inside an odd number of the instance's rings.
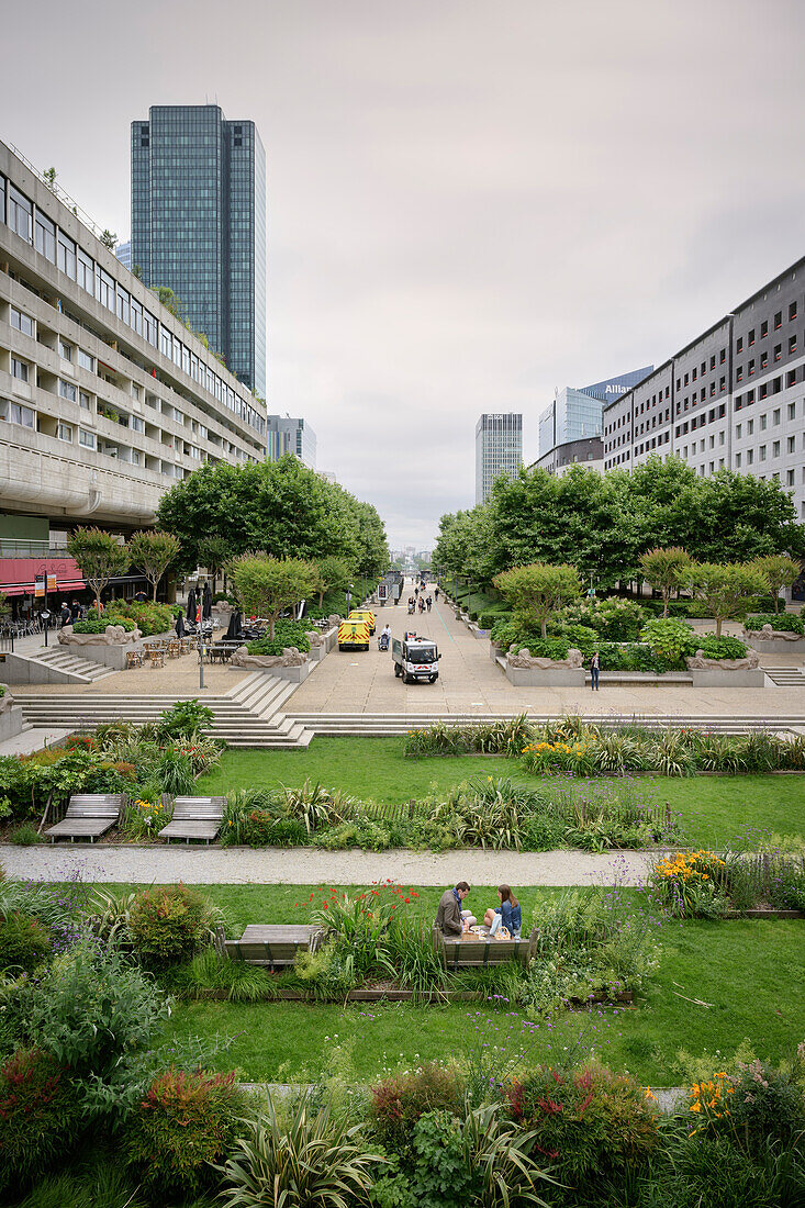
[[164,885],[139,893],[129,912],[128,928],[144,964],[164,969],[189,960],[209,930],[207,901],[186,885]]

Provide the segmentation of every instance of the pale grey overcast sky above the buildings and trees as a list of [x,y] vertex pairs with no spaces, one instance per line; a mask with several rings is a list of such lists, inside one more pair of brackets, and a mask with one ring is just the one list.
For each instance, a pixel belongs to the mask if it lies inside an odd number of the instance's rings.
[[121,238],[129,123],[253,118],[268,403],[429,547],[475,423],[650,362],[805,251],[801,0],[2,5],[0,138]]

